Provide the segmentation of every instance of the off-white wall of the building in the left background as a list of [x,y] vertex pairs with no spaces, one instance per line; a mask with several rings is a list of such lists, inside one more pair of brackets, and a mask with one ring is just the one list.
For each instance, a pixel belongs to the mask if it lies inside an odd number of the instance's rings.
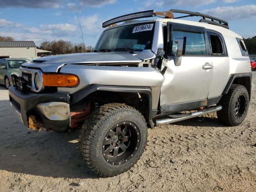
[[35,47],[0,47],[0,56],[14,57],[36,57]]

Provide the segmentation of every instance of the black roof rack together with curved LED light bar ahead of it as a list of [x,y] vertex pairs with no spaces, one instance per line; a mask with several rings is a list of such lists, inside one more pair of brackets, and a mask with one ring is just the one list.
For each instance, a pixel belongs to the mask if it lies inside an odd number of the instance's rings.
[[[187,15],[174,18],[173,13],[181,13],[181,14],[187,14]],[[113,18],[113,19],[110,19],[110,20],[104,22],[102,24],[102,27],[106,28],[106,27],[116,26],[116,23],[119,23],[119,22],[140,19],[140,18],[155,17],[155,16],[164,16],[164,18],[174,18],[174,19],[180,19],[180,18],[192,17],[192,16],[200,16],[200,17],[202,17],[202,19],[199,20],[199,22],[217,25],[217,26],[221,26],[221,27],[224,27],[227,29],[229,28],[228,22],[225,20],[210,16],[210,15],[198,13],[198,12],[184,11],[184,10],[178,10],[178,9],[171,9],[169,11],[160,11],[160,12],[156,12],[154,10],[149,10],[149,11],[142,11],[142,12],[127,14],[127,15],[116,17],[116,18]],[[210,19],[210,20],[208,20],[208,19]]]

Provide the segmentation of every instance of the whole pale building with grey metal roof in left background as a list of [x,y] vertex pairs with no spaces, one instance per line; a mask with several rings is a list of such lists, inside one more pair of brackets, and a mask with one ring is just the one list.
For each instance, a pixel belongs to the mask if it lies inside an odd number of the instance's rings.
[[[40,50],[49,52],[46,50]],[[36,58],[38,57],[38,49],[34,41],[0,41],[0,58]]]

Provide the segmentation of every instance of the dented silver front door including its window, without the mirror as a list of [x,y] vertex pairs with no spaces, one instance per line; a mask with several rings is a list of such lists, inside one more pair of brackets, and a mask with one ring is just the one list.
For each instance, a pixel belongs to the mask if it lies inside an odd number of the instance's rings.
[[[212,81],[213,63],[205,28],[168,22],[167,66],[161,89],[161,113],[204,106]],[[176,66],[176,37],[186,37],[186,50]]]

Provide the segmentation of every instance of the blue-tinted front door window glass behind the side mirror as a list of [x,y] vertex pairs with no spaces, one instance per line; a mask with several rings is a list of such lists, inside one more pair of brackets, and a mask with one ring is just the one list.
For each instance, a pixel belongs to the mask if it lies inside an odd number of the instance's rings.
[[185,55],[206,55],[206,43],[204,33],[173,30],[171,52],[172,55],[176,55],[177,52],[177,44],[175,43],[176,37],[187,38]]

